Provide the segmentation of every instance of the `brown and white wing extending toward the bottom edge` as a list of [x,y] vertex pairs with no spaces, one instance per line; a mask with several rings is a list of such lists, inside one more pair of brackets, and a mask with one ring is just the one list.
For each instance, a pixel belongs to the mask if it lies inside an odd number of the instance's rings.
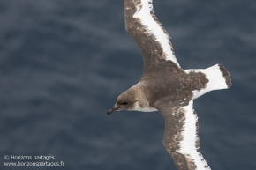
[[165,121],[162,142],[179,170],[209,170],[200,152],[198,116],[192,103],[188,97],[175,102],[165,99],[154,104]]

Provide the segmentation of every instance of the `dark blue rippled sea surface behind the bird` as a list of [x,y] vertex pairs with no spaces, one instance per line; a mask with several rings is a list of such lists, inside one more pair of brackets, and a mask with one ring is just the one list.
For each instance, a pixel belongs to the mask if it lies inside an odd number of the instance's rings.
[[[255,170],[256,1],[154,0],[154,12],[182,68],[230,72],[229,90],[194,101],[207,163]],[[142,69],[122,0],[0,0],[0,169],[177,169],[160,113],[106,114]]]

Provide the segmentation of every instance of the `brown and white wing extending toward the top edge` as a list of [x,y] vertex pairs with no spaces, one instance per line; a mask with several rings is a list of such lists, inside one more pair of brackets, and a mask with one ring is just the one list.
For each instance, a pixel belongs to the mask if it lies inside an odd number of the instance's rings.
[[124,0],[124,13],[125,29],[142,51],[144,73],[166,60],[172,67],[180,67],[169,35],[154,15],[152,0]]

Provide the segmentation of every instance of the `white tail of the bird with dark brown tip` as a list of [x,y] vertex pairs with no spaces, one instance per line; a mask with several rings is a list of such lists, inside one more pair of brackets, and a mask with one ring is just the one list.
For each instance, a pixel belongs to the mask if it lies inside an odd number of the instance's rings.
[[227,89],[231,86],[231,78],[229,72],[221,65],[215,64],[212,67],[207,69],[198,69],[198,70],[184,70],[187,74],[191,71],[202,72],[206,75],[209,82],[207,83],[206,88],[201,89],[200,91],[195,90],[193,92],[193,100],[213,90]]

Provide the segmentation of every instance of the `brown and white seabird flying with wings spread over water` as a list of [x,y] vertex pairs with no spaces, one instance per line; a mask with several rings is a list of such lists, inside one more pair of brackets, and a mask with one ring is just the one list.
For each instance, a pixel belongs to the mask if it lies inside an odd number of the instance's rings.
[[137,42],[144,61],[139,83],[117,97],[108,115],[119,110],[159,111],[165,122],[163,145],[179,170],[210,167],[200,152],[198,116],[193,100],[231,86],[221,64],[183,70],[169,34],[154,15],[152,0],[124,0],[125,29]]

